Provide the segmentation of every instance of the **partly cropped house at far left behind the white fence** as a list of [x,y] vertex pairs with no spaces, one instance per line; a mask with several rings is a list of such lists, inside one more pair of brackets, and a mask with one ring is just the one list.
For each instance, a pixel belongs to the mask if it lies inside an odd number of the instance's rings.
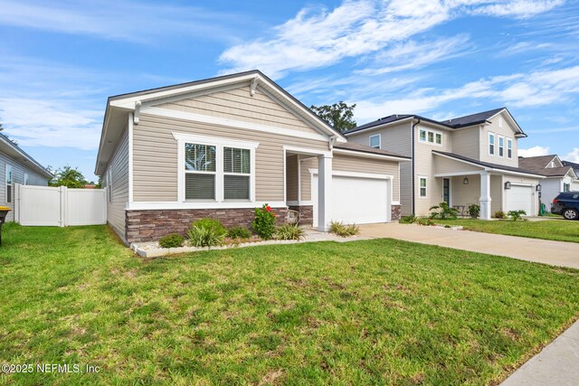
[[46,186],[52,174],[40,165],[20,146],[0,134],[0,206],[12,209],[6,221],[14,221],[14,184]]

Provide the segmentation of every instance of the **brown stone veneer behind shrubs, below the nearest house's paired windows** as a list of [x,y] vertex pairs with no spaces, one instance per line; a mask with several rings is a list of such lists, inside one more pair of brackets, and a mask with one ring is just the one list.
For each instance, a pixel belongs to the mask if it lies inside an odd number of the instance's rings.
[[[282,225],[286,222],[286,208],[273,208],[273,212],[278,218],[276,224]],[[243,226],[250,229],[255,218],[253,208],[126,211],[125,216],[128,244],[159,240],[170,233],[185,235],[191,222],[206,217],[218,219],[225,228]]]

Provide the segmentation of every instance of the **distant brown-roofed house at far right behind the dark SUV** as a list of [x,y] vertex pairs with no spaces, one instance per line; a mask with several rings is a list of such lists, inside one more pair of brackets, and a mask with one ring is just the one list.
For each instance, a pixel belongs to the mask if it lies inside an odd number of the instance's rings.
[[557,194],[579,191],[579,179],[577,179],[573,166],[565,166],[558,155],[520,157],[518,165],[546,176],[541,183],[543,186],[541,202],[545,202],[547,210],[551,209],[551,204]]

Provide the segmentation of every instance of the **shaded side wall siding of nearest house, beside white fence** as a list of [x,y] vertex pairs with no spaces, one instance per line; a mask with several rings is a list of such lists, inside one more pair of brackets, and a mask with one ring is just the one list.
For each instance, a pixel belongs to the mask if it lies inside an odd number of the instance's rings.
[[[110,173],[111,184],[107,185]],[[107,193],[107,221],[120,238],[126,240],[125,235],[125,204],[128,202],[128,129],[125,127],[119,137],[119,143],[109,165],[102,176],[102,185],[110,189]]]

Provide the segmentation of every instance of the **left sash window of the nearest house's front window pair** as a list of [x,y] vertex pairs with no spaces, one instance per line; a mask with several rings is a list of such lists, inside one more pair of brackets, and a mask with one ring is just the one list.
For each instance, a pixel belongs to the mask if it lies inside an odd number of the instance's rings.
[[215,146],[185,144],[185,200],[215,199]]

